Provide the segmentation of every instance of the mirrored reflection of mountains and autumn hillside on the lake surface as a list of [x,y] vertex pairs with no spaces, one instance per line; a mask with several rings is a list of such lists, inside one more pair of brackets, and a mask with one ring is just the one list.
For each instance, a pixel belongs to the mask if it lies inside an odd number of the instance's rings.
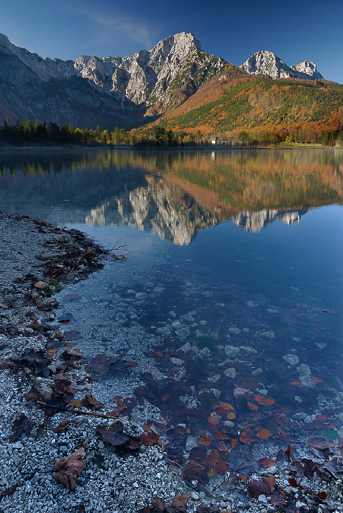
[[273,220],[295,224],[343,198],[343,156],[334,150],[9,150],[0,162],[4,210],[129,225],[177,245],[226,220],[252,232]]

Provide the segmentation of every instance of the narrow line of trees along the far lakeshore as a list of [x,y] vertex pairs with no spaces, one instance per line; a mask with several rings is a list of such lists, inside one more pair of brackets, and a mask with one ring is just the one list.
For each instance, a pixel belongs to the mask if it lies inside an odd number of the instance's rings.
[[132,147],[183,147],[183,146],[208,146],[219,145],[226,147],[268,147],[278,145],[319,144],[325,147],[343,146],[343,129],[324,130],[318,132],[315,141],[308,139],[306,133],[296,132],[288,134],[263,130],[250,132],[240,130],[230,136],[216,133],[204,134],[200,130],[188,132],[187,130],[175,131],[163,126],[149,126],[127,131],[124,128],[115,127],[113,131],[102,130],[99,126],[92,128],[75,128],[71,124],[62,128],[56,123],[41,123],[36,120],[17,121],[11,124],[7,119],[0,127],[0,146],[132,146]]

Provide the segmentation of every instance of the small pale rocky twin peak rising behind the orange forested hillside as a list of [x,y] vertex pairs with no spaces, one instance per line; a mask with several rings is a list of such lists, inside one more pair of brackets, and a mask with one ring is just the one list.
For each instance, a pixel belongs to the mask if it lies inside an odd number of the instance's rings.
[[255,52],[240,68],[251,75],[267,75],[271,78],[323,78],[314,62],[302,61],[289,67],[275,53],[268,51]]

